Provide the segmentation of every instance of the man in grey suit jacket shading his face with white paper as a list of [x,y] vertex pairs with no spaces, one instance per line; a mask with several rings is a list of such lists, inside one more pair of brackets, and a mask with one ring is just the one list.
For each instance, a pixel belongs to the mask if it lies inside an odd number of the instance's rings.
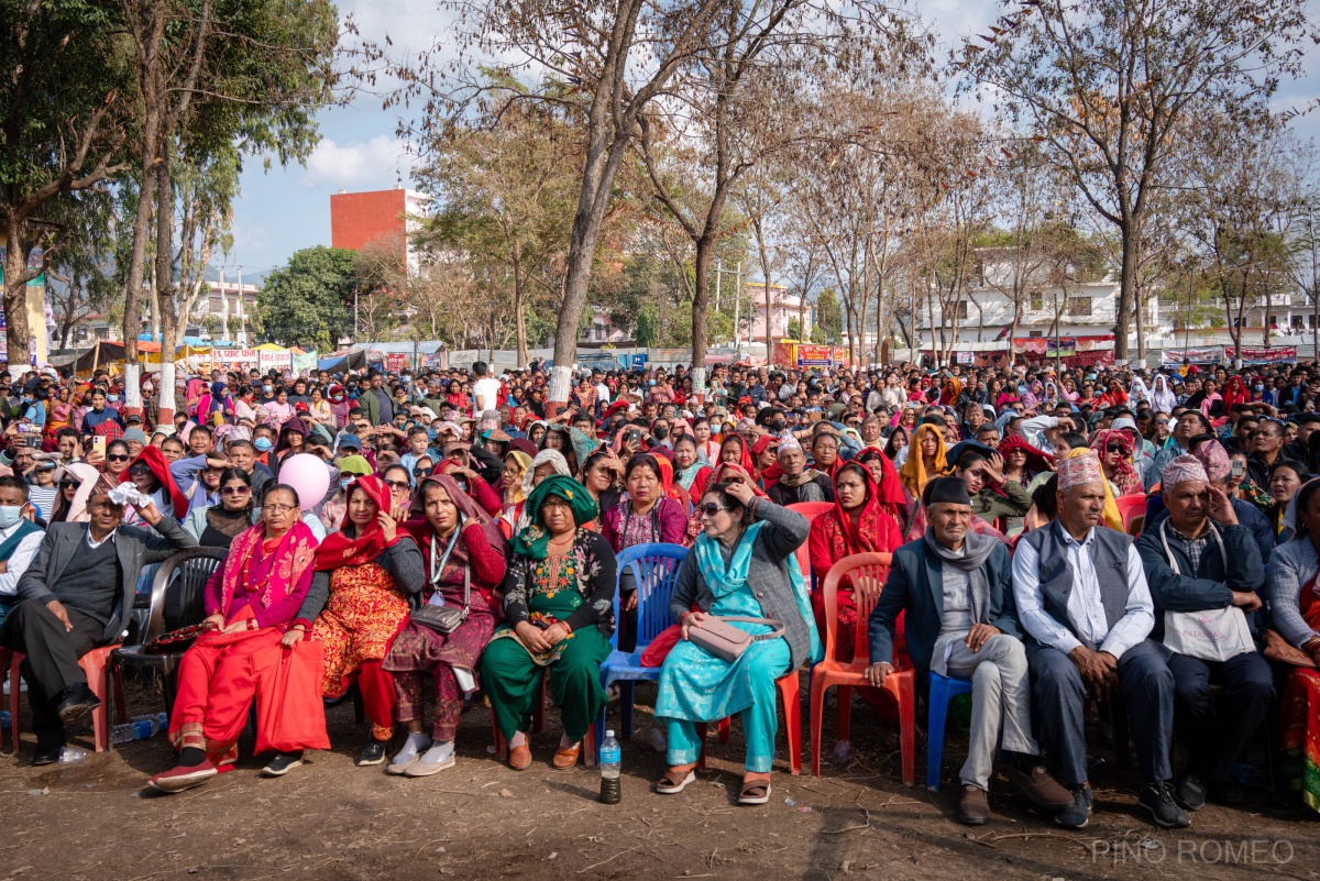
[[124,506],[110,491],[103,477],[87,501],[90,522],[51,524],[0,632],[5,648],[26,655],[21,670],[37,735],[33,765],[59,761],[65,723],[100,706],[78,658],[120,638],[143,566],[197,547],[177,520],[150,502],[137,513],[160,534],[121,525]]

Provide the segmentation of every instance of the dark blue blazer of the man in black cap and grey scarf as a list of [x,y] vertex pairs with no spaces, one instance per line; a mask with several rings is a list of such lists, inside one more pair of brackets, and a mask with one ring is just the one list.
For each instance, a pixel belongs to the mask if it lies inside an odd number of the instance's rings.
[[[990,607],[987,624],[1008,636],[1022,638],[1022,625],[1012,600],[1012,558],[1003,542],[986,559],[990,580]],[[880,591],[880,599],[871,609],[869,633],[871,663],[894,662],[894,624],[902,612],[907,632],[908,655],[924,677],[931,670],[935,641],[944,623],[944,564],[925,546],[925,539],[903,545],[894,551],[890,579]]]

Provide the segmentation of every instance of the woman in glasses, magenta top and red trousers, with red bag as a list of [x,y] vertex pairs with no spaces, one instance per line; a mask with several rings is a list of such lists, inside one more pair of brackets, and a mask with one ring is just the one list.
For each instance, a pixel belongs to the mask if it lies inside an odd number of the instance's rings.
[[[206,586],[207,628],[183,653],[178,666],[174,712],[169,737],[178,757],[174,766],[150,778],[162,793],[178,793],[201,786],[215,777],[218,768],[232,769],[238,760],[239,733],[247,724],[248,706],[256,700],[256,749],[279,753],[263,769],[280,775],[301,764],[302,749],[329,749],[325,714],[319,695],[277,692],[281,665],[298,653],[301,661],[315,662],[315,644],[284,649],[280,640],[312,587],[317,538],[301,520],[298,493],[275,484],[261,500],[261,522],[234,539],[224,564]],[[308,700],[310,699],[310,702]],[[317,727],[319,735],[284,739],[271,720],[271,710],[309,711],[301,721]],[[279,715],[279,714],[277,714]],[[300,714],[302,715],[302,714]]]

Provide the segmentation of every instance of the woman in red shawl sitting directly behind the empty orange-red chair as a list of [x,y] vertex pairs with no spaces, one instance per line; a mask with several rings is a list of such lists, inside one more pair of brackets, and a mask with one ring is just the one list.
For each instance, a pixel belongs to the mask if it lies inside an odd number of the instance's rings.
[[[825,632],[825,576],[834,563],[853,554],[891,554],[903,543],[898,524],[886,512],[880,489],[866,466],[849,462],[840,467],[834,476],[834,510],[812,521],[812,532],[807,539],[810,553],[812,572],[816,575],[816,590],[812,591],[812,611],[816,613],[816,626]],[[870,597],[873,601],[875,597]],[[857,642],[857,629],[866,628],[857,615],[857,597],[853,583],[843,579],[838,586],[838,638],[834,642],[834,657],[838,661],[851,661]],[[870,688],[861,691],[863,699],[882,714],[892,715],[886,699]],[[851,754],[846,740],[834,744],[833,761],[845,764]]]

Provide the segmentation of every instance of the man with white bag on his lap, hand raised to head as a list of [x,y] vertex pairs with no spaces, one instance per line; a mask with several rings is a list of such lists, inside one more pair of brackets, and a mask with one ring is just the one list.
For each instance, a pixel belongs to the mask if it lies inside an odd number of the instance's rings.
[[1168,517],[1142,533],[1137,550],[1160,612],[1156,633],[1172,652],[1175,723],[1191,753],[1177,801],[1189,811],[1206,798],[1236,805],[1233,765],[1274,700],[1274,675],[1255,644],[1265,564],[1200,458],[1164,466],[1160,495]]

